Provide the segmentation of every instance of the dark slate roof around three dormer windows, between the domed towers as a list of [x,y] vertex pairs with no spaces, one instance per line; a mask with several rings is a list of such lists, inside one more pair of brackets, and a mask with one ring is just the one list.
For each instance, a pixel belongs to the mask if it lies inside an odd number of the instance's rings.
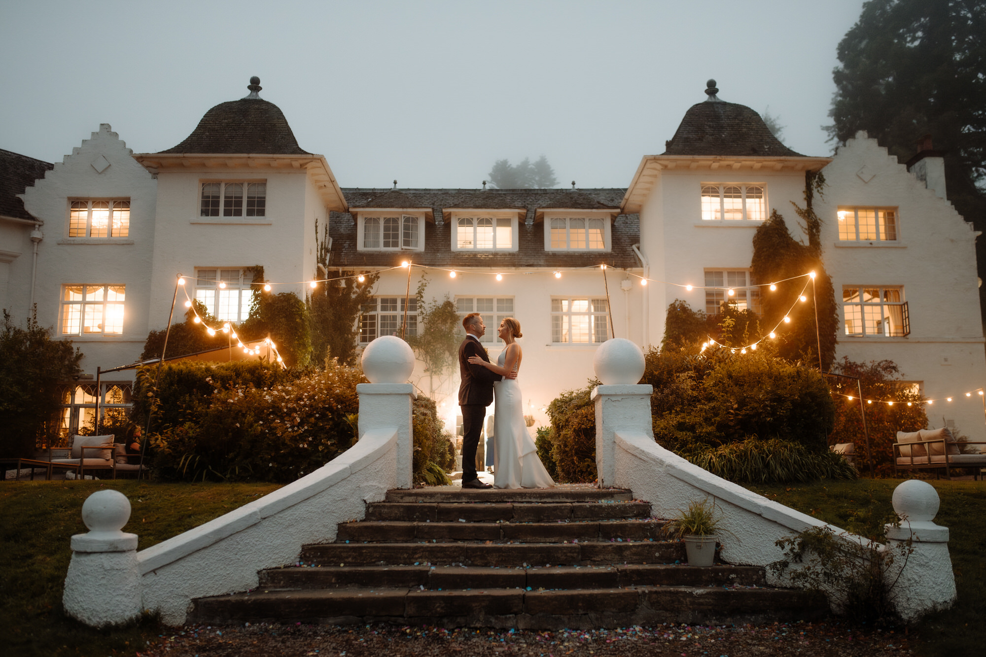
[[[544,222],[534,221],[538,209],[609,209],[619,210],[625,188],[579,189],[365,189],[344,188],[349,207],[360,208],[432,208],[436,223],[425,225],[425,248],[421,252],[357,251],[356,221],[350,212],[332,212],[328,234],[332,238],[328,266],[341,268],[376,268],[400,264],[408,256],[416,264],[466,267],[558,267],[598,266],[639,267],[631,247],[640,242],[640,217],[617,215],[612,223],[612,250],[607,252],[559,253],[544,251]],[[393,201],[406,199],[407,204]],[[452,224],[444,220],[443,208],[521,209],[518,222],[519,243],[516,252],[461,252],[452,250]],[[441,222],[441,225],[439,224]]]

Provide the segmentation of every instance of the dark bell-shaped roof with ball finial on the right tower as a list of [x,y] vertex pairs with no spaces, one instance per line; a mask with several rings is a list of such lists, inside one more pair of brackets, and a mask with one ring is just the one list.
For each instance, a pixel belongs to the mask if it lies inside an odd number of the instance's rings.
[[709,98],[685,112],[662,155],[806,157],[782,144],[760,114],[744,105],[720,101],[715,80],[707,84]]

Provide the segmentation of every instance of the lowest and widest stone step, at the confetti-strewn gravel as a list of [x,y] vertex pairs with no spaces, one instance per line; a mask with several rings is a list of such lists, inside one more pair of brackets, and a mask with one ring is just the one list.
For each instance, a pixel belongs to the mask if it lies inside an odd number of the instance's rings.
[[660,622],[740,624],[821,619],[824,597],[769,588],[642,586],[527,591],[411,588],[260,590],[194,601],[189,622],[373,622],[529,629]]

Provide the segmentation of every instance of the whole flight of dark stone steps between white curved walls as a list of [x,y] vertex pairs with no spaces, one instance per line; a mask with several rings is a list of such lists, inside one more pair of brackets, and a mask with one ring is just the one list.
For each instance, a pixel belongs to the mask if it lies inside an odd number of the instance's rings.
[[811,620],[824,598],[768,588],[763,568],[685,564],[629,490],[391,490],[301,566],[193,601],[190,621],[598,628]]

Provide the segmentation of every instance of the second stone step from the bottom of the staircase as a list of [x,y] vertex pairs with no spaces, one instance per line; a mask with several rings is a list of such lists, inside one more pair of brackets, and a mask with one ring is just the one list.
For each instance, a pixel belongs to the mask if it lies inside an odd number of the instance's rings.
[[758,566],[694,568],[664,563],[597,566],[322,566],[260,571],[258,590],[347,587],[465,589],[597,589],[628,586],[763,586]]

